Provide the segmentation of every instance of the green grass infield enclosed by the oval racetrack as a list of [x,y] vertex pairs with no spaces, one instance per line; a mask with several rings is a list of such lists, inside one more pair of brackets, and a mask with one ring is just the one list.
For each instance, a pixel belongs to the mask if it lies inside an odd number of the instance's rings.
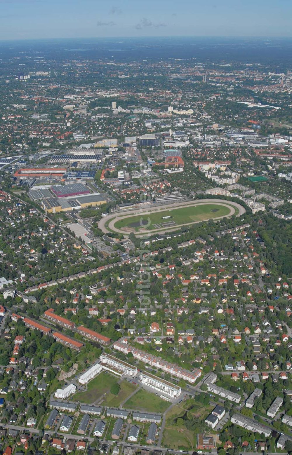
[[[157,211],[145,214],[143,216],[134,215],[133,217],[121,218],[117,222],[115,222],[114,227],[116,227],[117,229],[132,227],[135,229],[136,232],[138,232],[139,229],[143,226],[147,227],[147,229],[149,230],[159,228],[159,226],[157,225],[160,225],[160,228],[171,227],[164,224],[164,223],[167,224],[169,222],[174,222],[175,227],[175,225],[199,222],[208,220],[210,218],[228,216],[231,212],[230,207],[223,206],[219,203],[214,204],[202,203],[195,206],[164,210],[163,212]],[[151,221],[150,225],[148,225],[148,218]]]

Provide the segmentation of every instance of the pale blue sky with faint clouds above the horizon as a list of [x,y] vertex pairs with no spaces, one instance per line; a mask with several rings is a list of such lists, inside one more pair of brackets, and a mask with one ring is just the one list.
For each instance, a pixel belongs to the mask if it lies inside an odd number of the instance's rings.
[[291,0],[0,0],[0,40],[292,36]]

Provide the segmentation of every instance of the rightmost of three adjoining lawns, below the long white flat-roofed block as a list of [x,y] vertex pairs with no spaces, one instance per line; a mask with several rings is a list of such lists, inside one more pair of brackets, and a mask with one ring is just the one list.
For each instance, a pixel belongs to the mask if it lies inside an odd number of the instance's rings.
[[126,401],[123,407],[126,409],[163,413],[169,408],[170,404],[169,401],[159,398],[156,394],[139,389],[136,394]]

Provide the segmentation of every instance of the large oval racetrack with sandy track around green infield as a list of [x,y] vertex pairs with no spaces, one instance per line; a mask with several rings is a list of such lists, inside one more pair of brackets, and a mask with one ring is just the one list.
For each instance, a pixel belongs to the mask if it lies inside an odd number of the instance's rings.
[[104,233],[117,233],[125,236],[162,234],[194,223],[218,220],[232,215],[241,216],[245,209],[236,202],[222,199],[198,199],[189,202],[151,207],[135,207],[125,212],[117,212],[102,218],[98,227]]

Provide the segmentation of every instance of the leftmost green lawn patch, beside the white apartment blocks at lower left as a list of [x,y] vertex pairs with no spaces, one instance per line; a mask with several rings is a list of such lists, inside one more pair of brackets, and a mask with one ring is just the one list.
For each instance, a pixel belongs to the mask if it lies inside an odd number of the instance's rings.
[[77,392],[77,394],[73,396],[72,400],[92,404],[97,399],[101,398],[103,394],[109,392],[112,385],[117,382],[118,378],[102,372],[87,384],[87,390],[85,392]]

